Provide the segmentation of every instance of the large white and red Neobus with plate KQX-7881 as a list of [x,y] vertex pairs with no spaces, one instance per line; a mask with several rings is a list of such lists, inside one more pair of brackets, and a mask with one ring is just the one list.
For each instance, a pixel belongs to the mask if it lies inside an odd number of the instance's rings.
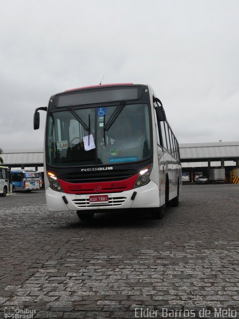
[[178,206],[178,142],[149,85],[105,84],[58,93],[48,107],[44,149],[49,211],[80,219],[108,209]]

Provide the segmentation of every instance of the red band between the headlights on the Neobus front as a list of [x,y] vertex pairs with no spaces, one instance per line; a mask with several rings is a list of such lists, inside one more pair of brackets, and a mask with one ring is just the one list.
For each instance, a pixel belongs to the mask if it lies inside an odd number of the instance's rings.
[[63,191],[67,194],[116,193],[133,188],[138,174],[124,180],[102,181],[93,183],[69,183],[58,178]]

